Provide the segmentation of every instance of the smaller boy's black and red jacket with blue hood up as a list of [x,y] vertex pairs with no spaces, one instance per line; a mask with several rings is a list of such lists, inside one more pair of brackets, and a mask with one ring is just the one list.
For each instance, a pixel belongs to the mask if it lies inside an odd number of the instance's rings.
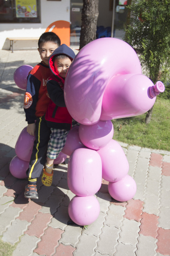
[[47,91],[51,100],[45,114],[45,119],[47,120],[47,125],[51,128],[70,130],[72,117],[64,101],[64,79],[59,76],[53,66],[53,57],[61,54],[68,56],[72,60],[75,57],[73,50],[66,46],[66,44],[62,44],[49,58],[49,67],[53,75],[47,81]]

